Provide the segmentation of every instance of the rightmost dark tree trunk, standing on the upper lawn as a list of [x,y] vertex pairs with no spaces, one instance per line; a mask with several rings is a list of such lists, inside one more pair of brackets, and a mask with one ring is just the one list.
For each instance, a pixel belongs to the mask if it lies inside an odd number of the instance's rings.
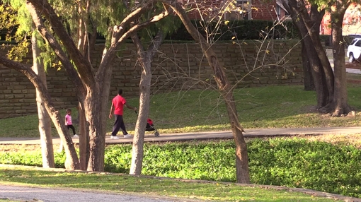
[[332,26],[332,50],[333,50],[333,69],[335,71],[335,96],[330,104],[331,114],[340,117],[348,114],[351,109],[348,105],[348,90],[346,83],[345,68],[345,44],[343,43],[342,26],[343,16],[348,6],[338,8],[338,14],[333,16]]

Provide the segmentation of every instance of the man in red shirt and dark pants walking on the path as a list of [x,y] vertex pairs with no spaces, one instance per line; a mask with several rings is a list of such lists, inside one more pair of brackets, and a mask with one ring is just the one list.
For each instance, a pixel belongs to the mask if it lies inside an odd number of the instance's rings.
[[137,108],[127,105],[127,101],[125,100],[124,97],[122,97],[122,93],[123,93],[123,90],[119,89],[118,95],[113,98],[112,107],[110,107],[109,119],[112,118],[113,109],[114,109],[114,117],[115,117],[113,132],[112,132],[112,136],[110,137],[112,139],[119,139],[119,137],[117,136],[119,129],[122,129],[122,132],[123,132],[123,135],[125,138],[133,137],[130,134],[128,134],[127,130],[125,129],[125,124],[123,121],[123,107],[125,105],[127,108],[133,109],[134,111],[136,111]]

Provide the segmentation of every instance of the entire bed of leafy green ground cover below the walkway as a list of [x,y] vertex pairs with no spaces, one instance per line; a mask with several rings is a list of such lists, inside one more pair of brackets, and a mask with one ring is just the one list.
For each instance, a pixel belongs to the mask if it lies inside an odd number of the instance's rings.
[[[105,171],[130,170],[131,145],[105,150]],[[256,139],[248,143],[251,182],[303,187],[361,197],[361,151],[299,138]],[[64,153],[55,156],[64,164]],[[144,145],[142,174],[235,182],[234,141],[192,141]],[[41,165],[40,152],[0,153],[0,163]]]

